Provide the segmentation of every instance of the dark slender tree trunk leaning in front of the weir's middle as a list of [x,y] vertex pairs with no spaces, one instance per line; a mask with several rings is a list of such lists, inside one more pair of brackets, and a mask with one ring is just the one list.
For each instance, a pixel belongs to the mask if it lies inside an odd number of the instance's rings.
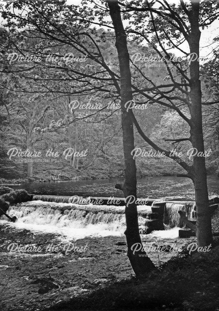
[[[116,49],[118,52],[119,68],[120,68],[120,96],[121,96],[121,110],[122,114],[122,132],[123,132],[123,152],[124,152],[124,167],[125,167],[125,182],[121,189],[124,196],[133,196],[136,201],[136,165],[133,160],[131,151],[134,149],[134,132],[132,118],[129,112],[126,111],[125,103],[132,100],[132,86],[131,86],[131,72],[129,67],[129,54],[127,49],[126,33],[123,28],[120,7],[118,1],[107,1],[110,16],[113,22]],[[138,227],[138,213],[136,203],[133,202],[125,207],[126,216],[126,239],[128,247],[128,258],[131,262],[132,268],[137,276],[142,276],[144,273],[154,269],[154,265],[145,252],[142,252],[141,237]],[[138,251],[133,253],[132,246],[140,245]],[[143,255],[140,257],[139,255]]]

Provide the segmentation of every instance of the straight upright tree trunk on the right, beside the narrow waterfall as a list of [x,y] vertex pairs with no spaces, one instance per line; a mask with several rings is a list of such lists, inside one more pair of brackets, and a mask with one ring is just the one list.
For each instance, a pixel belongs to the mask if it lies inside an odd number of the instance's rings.
[[[199,40],[201,32],[199,30],[199,1],[192,1],[192,11],[190,17],[191,33],[189,37],[190,53],[196,53],[199,58]],[[208,207],[208,186],[207,172],[205,167],[204,141],[202,128],[202,92],[201,81],[199,80],[198,59],[190,63],[190,97],[191,97],[191,142],[193,148],[197,149],[197,155],[193,157],[195,188],[195,202],[197,212],[197,230],[199,246],[205,247],[212,243],[211,214]]]

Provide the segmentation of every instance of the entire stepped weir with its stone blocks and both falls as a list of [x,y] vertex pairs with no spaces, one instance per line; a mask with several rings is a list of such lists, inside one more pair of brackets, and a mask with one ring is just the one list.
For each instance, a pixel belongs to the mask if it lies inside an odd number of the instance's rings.
[[[195,208],[193,201],[140,198],[137,202],[140,233],[184,228],[178,211],[185,211],[186,216],[195,221]],[[58,228],[74,236],[82,234],[81,230],[83,236],[93,232],[118,235],[126,228],[125,199],[117,197],[33,195],[33,201],[11,206],[8,212],[18,218],[20,226],[41,226],[43,230]]]

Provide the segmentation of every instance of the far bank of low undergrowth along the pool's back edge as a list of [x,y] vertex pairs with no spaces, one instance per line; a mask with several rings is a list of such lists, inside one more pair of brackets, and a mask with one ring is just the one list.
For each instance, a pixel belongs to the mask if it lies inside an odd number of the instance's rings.
[[[13,163],[13,166],[12,166]],[[181,172],[181,167],[173,162],[171,165],[161,165],[160,163],[141,163],[137,161],[137,177],[167,176],[176,175]],[[124,178],[124,168],[120,161],[115,163],[100,158],[93,165],[86,168],[79,165],[78,169],[71,167],[69,161],[62,159],[57,162],[34,162],[33,178],[27,178],[27,163],[11,162],[7,159],[0,159],[0,176],[4,183],[26,183],[48,180],[92,180],[92,179],[112,179]],[[16,180],[14,180],[16,179]],[[19,181],[20,179],[20,181]],[[7,181],[6,181],[7,180]],[[0,179],[0,183],[1,179]]]

